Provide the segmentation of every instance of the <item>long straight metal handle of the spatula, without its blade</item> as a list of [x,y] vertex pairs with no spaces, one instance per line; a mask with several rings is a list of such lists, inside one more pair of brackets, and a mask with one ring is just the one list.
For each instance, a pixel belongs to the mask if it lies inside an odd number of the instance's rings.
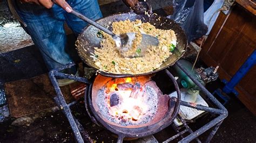
[[[57,4],[55,0],[52,0],[52,3]],[[58,5],[58,4],[57,4]],[[59,6],[59,5],[58,5]],[[61,7],[61,6],[60,6]],[[72,8],[73,9],[73,8]],[[84,20],[85,22],[95,26],[96,28],[99,28],[100,30],[106,32],[107,34],[110,34],[112,36],[116,36],[116,34],[114,34],[113,32],[111,32],[110,30],[108,30],[107,28],[105,28],[104,26],[96,23],[95,21],[91,20],[90,18],[87,18],[86,16],[82,15],[81,13],[79,13],[76,10],[72,10],[72,12],[70,12],[72,15],[77,16],[78,18]]]

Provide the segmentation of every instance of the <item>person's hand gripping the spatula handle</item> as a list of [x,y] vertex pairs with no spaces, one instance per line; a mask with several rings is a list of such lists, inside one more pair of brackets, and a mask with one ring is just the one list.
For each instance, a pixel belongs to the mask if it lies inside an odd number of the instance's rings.
[[[45,8],[52,8],[53,2],[51,0],[21,0],[23,3],[36,3],[43,5]],[[62,7],[66,12],[72,12],[71,6],[65,0],[54,0],[56,4]]]

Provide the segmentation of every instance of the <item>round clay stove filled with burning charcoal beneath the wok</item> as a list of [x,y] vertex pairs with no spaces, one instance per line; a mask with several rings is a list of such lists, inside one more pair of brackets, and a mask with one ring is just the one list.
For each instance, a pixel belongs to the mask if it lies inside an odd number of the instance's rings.
[[[140,138],[159,132],[177,116],[177,98],[163,95],[152,76],[97,75],[93,81],[88,99],[93,117],[116,133],[119,142],[124,137]],[[175,81],[173,76],[171,79]]]

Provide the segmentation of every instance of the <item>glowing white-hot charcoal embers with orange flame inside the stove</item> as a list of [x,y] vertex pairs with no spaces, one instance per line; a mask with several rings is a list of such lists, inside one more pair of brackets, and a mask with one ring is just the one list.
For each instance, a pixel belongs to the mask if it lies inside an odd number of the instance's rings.
[[144,87],[133,83],[132,78],[113,80],[107,84],[107,101],[110,115],[119,120],[139,120],[147,111]]

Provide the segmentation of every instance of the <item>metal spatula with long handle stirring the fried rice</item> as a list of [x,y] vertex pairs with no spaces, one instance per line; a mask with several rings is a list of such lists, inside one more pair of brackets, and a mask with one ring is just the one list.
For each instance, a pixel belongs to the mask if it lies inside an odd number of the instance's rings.
[[70,12],[70,13],[79,17],[80,19],[84,20],[85,22],[99,28],[100,30],[106,32],[107,34],[110,34],[112,36],[113,40],[116,42],[118,51],[124,57],[133,58],[133,57],[138,57],[138,56],[144,56],[147,47],[158,46],[158,44],[159,44],[158,38],[153,37],[148,34],[142,34],[142,40],[140,41],[140,44],[137,46],[137,49],[139,49],[139,50],[137,50],[136,53],[134,53],[134,54],[132,53],[132,54],[127,55],[127,54],[125,54],[125,52],[129,51],[129,49],[132,48],[133,40],[136,38],[136,36],[135,36],[136,33],[114,34],[110,30],[107,30],[107,28],[94,22],[90,18],[85,17],[84,15],[82,15],[81,13],[79,13],[75,10],[72,10],[72,12]]

